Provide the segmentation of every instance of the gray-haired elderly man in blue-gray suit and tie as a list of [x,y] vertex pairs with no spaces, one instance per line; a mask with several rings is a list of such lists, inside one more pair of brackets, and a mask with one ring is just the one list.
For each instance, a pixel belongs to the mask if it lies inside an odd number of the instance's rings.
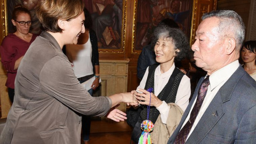
[[238,63],[244,35],[234,11],[203,15],[191,49],[207,75],[168,143],[255,143],[256,82]]

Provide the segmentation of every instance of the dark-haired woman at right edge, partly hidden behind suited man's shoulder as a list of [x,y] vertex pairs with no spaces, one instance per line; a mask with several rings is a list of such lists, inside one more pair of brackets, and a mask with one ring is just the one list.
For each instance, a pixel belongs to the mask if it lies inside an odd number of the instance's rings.
[[246,41],[241,50],[244,70],[256,81],[256,41]]

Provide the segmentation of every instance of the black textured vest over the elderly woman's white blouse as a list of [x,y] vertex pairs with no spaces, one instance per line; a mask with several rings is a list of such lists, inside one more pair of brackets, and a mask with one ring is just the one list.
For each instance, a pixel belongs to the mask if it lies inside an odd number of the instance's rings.
[[[149,87],[153,88],[154,93],[154,77],[155,77],[155,70],[158,65],[151,65],[148,68],[148,78],[145,86],[145,90],[147,90]],[[157,98],[161,101],[165,101],[166,103],[175,103],[177,91],[180,85],[180,81],[185,75],[182,73],[178,68],[175,68],[169,81],[164,86],[163,90],[158,94]],[[147,119],[147,106],[141,105],[141,113],[140,113],[140,120],[141,122]],[[149,120],[153,123],[156,122],[157,117],[159,116],[159,111],[156,109],[156,107],[150,107],[149,112]]]

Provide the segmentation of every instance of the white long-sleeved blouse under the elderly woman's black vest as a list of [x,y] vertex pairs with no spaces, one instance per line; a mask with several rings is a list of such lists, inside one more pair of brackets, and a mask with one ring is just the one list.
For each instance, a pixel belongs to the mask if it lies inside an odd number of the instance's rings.
[[[156,68],[155,70],[155,83],[154,83],[154,94],[157,95],[163,90],[164,86],[167,84],[167,82],[169,81],[169,78],[171,77],[173,71],[174,71],[175,65],[173,63],[172,67],[167,70],[165,73],[161,73],[160,70],[160,65]],[[146,73],[144,74],[140,85],[137,87],[137,91],[138,89],[144,89],[145,85],[146,85],[146,81],[147,81],[147,77],[148,77],[148,68],[146,70]],[[185,109],[188,106],[188,102],[189,102],[189,97],[190,97],[190,79],[184,75],[181,79],[179,88],[178,88],[178,92],[176,95],[176,100],[175,103],[183,110],[185,111]],[[164,124],[166,124],[167,118],[168,118],[168,113],[169,113],[169,109],[170,107],[167,106],[167,103],[165,101],[163,101],[162,105],[160,105],[159,107],[156,108],[159,113],[161,114],[161,119],[162,122]]]

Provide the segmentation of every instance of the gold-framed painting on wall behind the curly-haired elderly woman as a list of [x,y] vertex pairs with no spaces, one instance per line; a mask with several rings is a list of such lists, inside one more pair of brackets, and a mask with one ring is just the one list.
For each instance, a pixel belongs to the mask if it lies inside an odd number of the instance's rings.
[[150,44],[154,29],[163,19],[174,20],[182,31],[190,37],[193,1],[135,0],[132,53],[140,53],[144,46]]

